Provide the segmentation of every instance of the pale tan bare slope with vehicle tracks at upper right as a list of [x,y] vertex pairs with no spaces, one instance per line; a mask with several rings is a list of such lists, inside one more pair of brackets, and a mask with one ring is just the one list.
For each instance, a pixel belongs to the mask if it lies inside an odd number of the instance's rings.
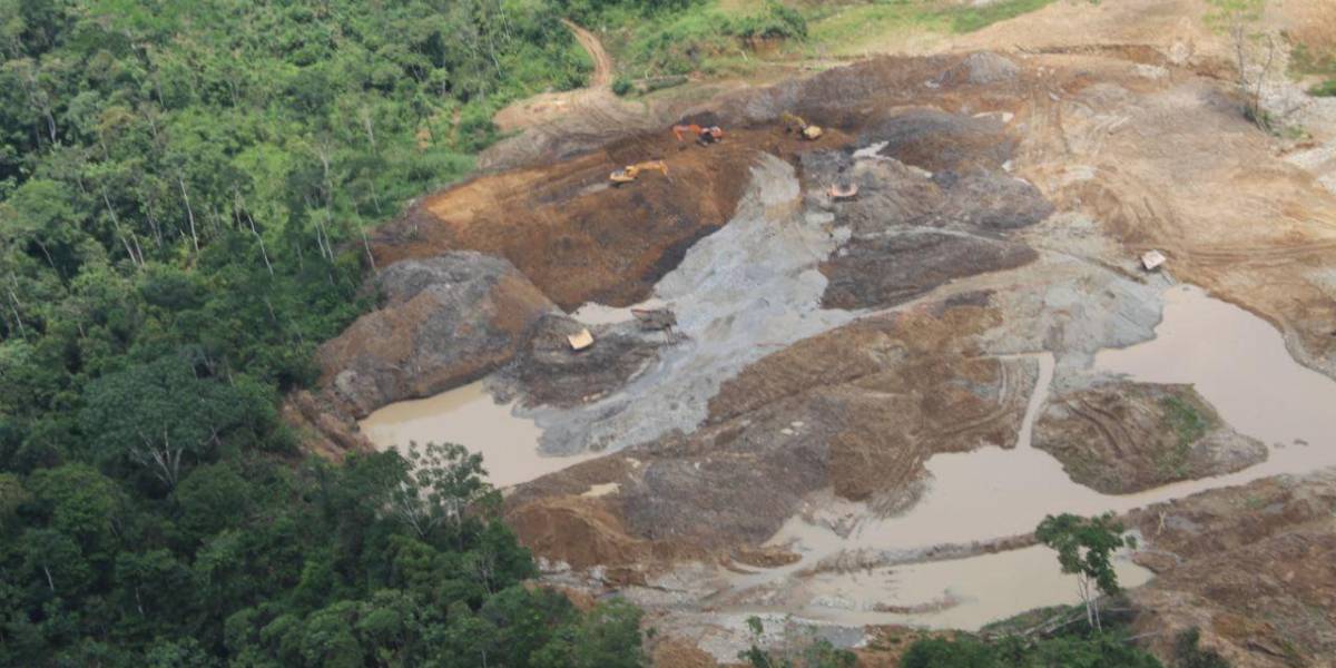
[[1336,371],[1336,301],[1320,278],[1336,262],[1336,198],[1277,160],[1210,80],[1057,61],[1071,69],[1053,90],[1071,102],[1038,98],[1027,111],[1038,131],[1023,172],[1059,208],[1089,212],[1129,253],[1164,251],[1176,278],[1264,317],[1301,362]]

